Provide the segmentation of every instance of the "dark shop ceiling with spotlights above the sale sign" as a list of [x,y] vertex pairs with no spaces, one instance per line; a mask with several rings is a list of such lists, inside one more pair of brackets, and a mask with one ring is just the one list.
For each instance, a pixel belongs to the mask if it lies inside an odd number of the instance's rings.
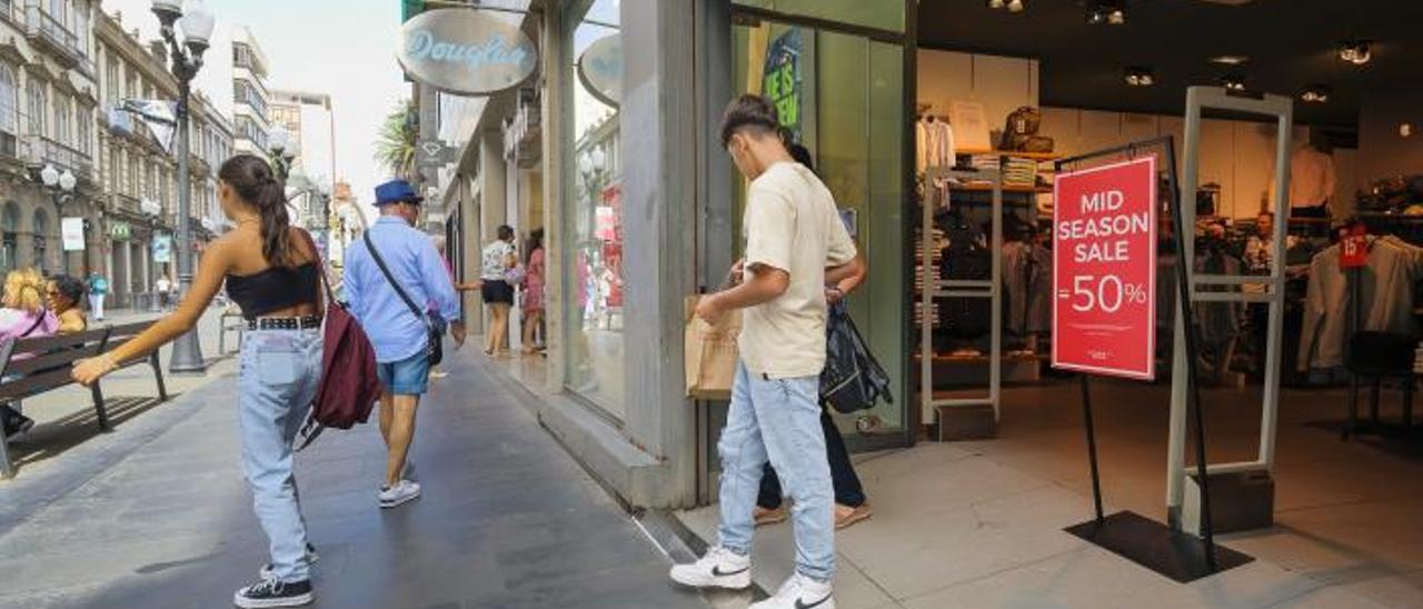
[[[1042,60],[1043,105],[1181,114],[1185,87],[1245,77],[1251,91],[1291,94],[1296,120],[1355,127],[1366,92],[1423,87],[1423,0],[1128,0],[1121,26],[1087,23],[1094,0],[1022,0],[1013,13],[986,0],[922,0],[919,46]],[[1339,58],[1370,41],[1372,60]],[[1239,55],[1241,65],[1211,60]],[[1148,67],[1155,84],[1128,87]],[[1306,87],[1332,88],[1303,104]]]

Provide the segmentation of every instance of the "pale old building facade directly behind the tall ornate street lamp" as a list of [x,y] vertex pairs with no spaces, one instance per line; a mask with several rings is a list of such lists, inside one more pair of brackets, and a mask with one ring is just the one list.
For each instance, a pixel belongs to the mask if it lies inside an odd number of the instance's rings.
[[[142,44],[120,16],[94,20],[98,65],[97,112],[102,221],[100,272],[110,277],[111,304],[148,307],[159,276],[176,275],[174,229],[178,225],[176,131],[149,128],[125,110],[127,101],[178,97],[162,44]],[[233,151],[233,128],[201,92],[191,98],[189,171],[194,248],[202,249],[223,229],[216,201],[216,169]],[[161,139],[166,137],[168,141]]]

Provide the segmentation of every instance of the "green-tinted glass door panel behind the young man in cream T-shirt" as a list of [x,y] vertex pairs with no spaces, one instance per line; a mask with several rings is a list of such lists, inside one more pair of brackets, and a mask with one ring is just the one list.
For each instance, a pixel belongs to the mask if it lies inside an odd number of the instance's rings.
[[[835,196],[868,282],[850,309],[894,380],[892,404],[835,415],[852,450],[912,443],[905,394],[905,47],[855,33],[734,17],[731,88],[770,98],[790,137],[804,145]],[[746,181],[734,174],[733,226],[740,233]],[[731,246],[740,255],[741,239]]]

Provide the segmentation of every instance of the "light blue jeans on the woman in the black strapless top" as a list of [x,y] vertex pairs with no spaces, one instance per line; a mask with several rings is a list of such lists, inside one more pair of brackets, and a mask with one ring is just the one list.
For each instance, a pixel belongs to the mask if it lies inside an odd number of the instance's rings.
[[306,522],[292,474],[292,441],[322,378],[322,330],[256,330],[242,337],[238,423],[242,470],[268,535],[272,572],[283,582],[310,576]]

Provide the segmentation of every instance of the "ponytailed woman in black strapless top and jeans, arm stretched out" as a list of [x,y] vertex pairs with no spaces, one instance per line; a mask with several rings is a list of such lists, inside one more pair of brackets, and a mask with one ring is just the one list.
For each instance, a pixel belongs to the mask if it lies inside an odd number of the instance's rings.
[[208,246],[188,299],[132,340],[74,369],[75,380],[92,384],[120,361],[176,339],[198,323],[226,283],[248,330],[238,373],[242,465],[270,551],[259,579],[233,595],[239,608],[299,606],[314,599],[310,563],[316,552],[297,501],[292,441],[322,376],[322,269],[310,235],[289,223],[285,188],[259,157],[242,154],[222,164],[218,196],[236,229]]

